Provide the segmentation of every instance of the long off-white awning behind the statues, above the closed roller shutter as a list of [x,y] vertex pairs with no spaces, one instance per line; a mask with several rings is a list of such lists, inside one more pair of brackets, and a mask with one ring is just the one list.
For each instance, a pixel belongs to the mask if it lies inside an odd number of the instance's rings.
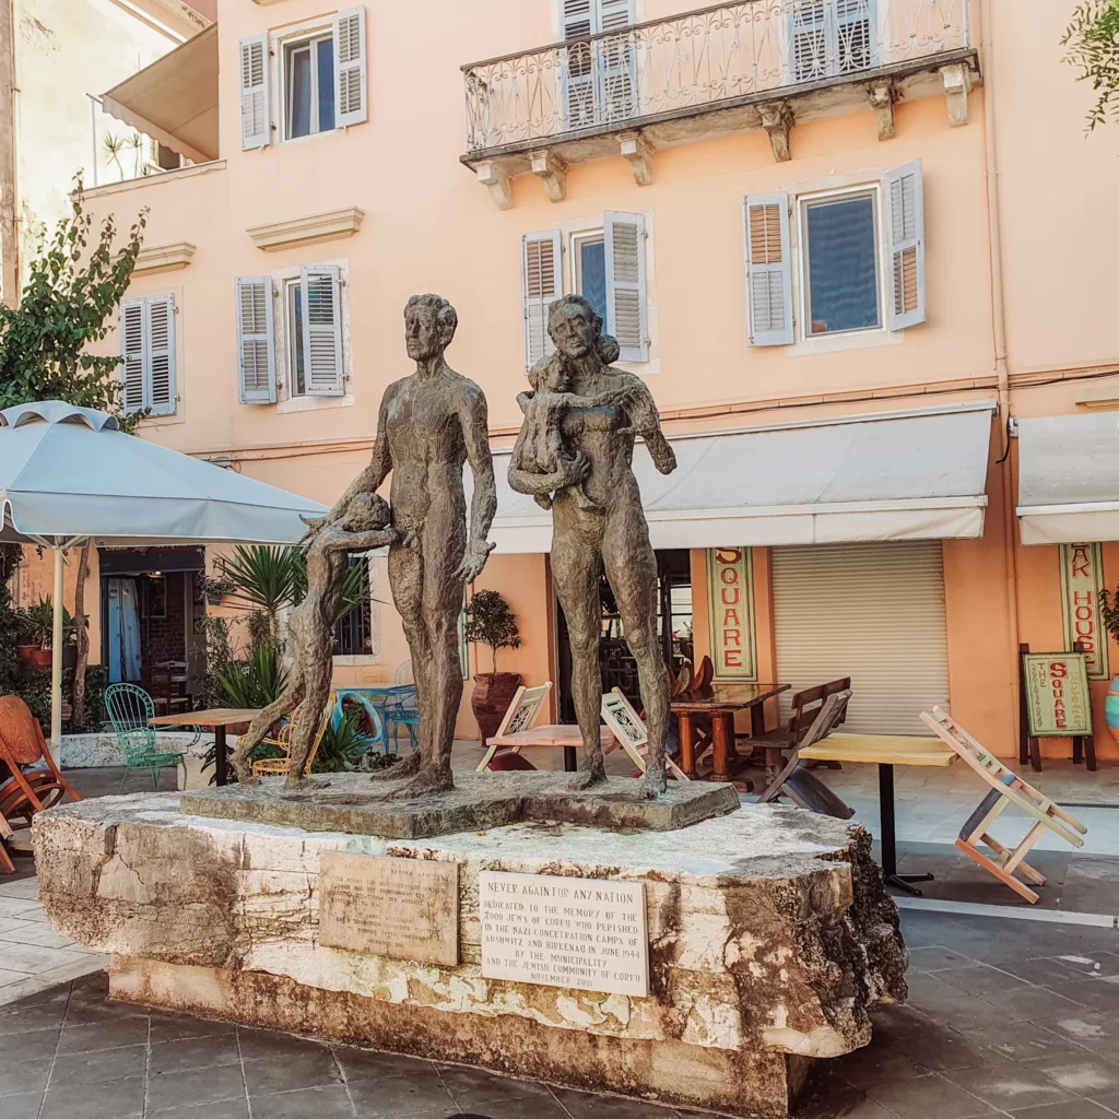
[[[671,440],[657,473],[633,454],[653,547],[912,540],[982,535],[989,403],[845,416]],[[515,493],[495,453],[499,552],[547,552],[552,515]]]

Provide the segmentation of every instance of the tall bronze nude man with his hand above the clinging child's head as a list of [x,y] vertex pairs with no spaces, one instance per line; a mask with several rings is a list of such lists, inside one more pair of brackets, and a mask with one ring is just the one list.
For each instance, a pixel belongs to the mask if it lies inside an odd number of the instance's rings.
[[[393,601],[412,652],[420,708],[420,746],[383,777],[413,777],[393,792],[412,798],[453,788],[451,746],[462,697],[459,612],[463,585],[477,579],[492,551],[497,511],[486,397],[443,357],[459,318],[439,295],[413,295],[404,333],[415,373],[385,391],[373,459],[327,517],[372,493],[392,472],[389,505],[397,539],[388,552]],[[470,463],[474,492],[467,532],[462,467]]]

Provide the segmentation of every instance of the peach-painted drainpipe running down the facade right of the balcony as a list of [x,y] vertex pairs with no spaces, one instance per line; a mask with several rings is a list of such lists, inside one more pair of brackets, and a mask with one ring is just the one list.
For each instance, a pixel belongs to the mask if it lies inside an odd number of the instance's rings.
[[998,199],[998,154],[995,141],[995,44],[991,31],[994,0],[979,0],[980,58],[984,90],[984,147],[987,154],[987,225],[990,231],[991,327],[995,342],[995,374],[998,377],[998,416],[1006,440],[1000,463],[1003,479],[1003,532],[1006,538],[1006,604],[1010,645],[1010,721],[1014,742],[1018,741],[1018,553],[1016,546],[1014,477],[1010,469],[1010,374],[1006,357],[1006,303],[1003,291],[1003,228]]

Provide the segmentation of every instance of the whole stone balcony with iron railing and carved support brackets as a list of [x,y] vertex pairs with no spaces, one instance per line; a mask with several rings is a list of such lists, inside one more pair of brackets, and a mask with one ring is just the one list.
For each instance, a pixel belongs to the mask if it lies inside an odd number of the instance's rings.
[[639,186],[659,148],[763,128],[791,158],[797,121],[943,95],[967,123],[979,82],[968,0],[746,0],[462,67],[462,162],[502,209],[535,173],[553,201],[573,163],[624,157]]

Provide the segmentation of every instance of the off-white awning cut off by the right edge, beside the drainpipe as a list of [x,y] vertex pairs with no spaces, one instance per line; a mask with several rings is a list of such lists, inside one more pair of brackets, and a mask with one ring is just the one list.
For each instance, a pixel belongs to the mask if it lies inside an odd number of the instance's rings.
[[1119,412],[1018,421],[1023,544],[1119,540]]

